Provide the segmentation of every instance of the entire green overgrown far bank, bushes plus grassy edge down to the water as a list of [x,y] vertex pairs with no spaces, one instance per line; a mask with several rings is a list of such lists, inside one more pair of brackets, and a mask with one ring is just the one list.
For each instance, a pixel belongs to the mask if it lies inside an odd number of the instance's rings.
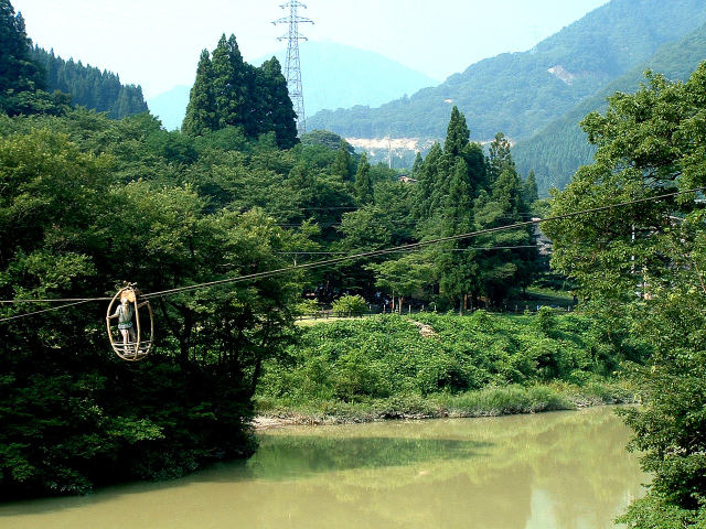
[[287,358],[266,366],[256,407],[299,422],[356,422],[631,402],[618,365],[645,346],[608,344],[599,322],[549,309],[329,321],[302,328]]

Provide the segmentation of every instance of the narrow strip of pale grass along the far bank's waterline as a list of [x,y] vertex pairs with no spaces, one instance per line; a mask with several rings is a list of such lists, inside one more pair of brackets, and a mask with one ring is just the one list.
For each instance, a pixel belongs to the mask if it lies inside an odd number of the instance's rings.
[[640,401],[625,382],[509,386],[485,388],[460,395],[414,395],[361,402],[323,401],[285,406],[258,398],[256,430],[288,425],[352,424],[386,420],[461,419],[577,410],[596,406],[628,404]]

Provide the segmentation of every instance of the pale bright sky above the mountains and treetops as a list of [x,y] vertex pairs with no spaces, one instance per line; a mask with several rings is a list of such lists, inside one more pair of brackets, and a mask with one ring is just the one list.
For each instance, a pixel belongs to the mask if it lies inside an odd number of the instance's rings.
[[[302,33],[370,50],[443,80],[503,52],[530,50],[608,0],[303,0]],[[142,85],[190,85],[201,50],[235,33],[246,60],[274,53],[284,0],[11,0],[32,40]]]

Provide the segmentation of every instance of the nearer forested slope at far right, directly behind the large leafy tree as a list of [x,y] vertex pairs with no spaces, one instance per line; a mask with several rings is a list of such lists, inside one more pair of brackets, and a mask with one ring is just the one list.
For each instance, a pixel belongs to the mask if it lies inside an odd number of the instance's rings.
[[589,112],[606,110],[607,98],[616,91],[637,91],[640,83],[645,80],[646,69],[662,73],[672,80],[686,80],[705,60],[706,24],[680,41],[664,45],[649,61],[585,99],[530,140],[515,145],[513,158],[521,174],[526,175],[534,170],[541,193],[550,187],[563,188],[580,165],[591,163],[596,152],[579,127]]

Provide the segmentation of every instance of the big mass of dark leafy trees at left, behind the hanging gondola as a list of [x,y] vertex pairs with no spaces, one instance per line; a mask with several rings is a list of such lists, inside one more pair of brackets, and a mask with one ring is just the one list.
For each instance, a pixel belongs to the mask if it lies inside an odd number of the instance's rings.
[[[1,298],[109,295],[119,280],[149,292],[284,266],[290,238],[275,220],[208,213],[160,151],[169,141],[149,117],[0,120]],[[289,341],[295,292],[280,278],[161,299],[158,353],[139,366],[109,352],[103,303],[0,323],[3,496],[249,454],[249,396]]]

